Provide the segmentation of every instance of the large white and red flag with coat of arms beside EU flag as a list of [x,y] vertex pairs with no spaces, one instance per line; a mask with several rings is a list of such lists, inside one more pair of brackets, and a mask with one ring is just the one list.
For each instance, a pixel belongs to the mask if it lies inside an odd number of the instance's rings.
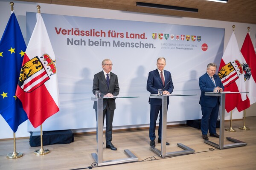
[[24,55],[16,96],[36,128],[59,111],[55,54],[41,14]]

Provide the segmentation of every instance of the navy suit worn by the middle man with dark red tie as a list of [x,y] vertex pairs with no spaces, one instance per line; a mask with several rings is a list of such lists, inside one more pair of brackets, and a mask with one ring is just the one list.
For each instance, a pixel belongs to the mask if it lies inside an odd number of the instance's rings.
[[[148,81],[147,81],[147,91],[150,94],[158,94],[158,89],[162,88],[163,91],[169,91],[172,94],[173,91],[173,83],[172,83],[172,75],[169,71],[163,70],[163,74],[165,77],[165,85],[161,80],[160,74],[158,70],[153,70],[148,73]],[[159,127],[158,127],[158,139],[161,139],[162,136],[162,99],[154,99],[149,98],[148,102],[150,103],[150,125],[149,125],[149,138],[150,140],[154,140],[156,138],[155,130],[156,130],[156,122],[158,113],[160,111],[159,118]],[[169,97],[167,99],[167,108],[169,105]]]

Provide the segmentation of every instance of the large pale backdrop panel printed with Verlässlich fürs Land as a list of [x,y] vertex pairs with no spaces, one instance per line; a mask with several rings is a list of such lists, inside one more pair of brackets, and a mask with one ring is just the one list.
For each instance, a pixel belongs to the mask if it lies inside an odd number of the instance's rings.
[[[197,94],[197,96],[170,97],[167,121],[177,122],[201,119],[198,104],[199,77],[206,72],[209,62],[220,63],[224,47],[224,28],[183,26],[163,23],[149,23],[127,20],[110,20],[88,17],[73,17],[42,14],[44,23],[56,56],[60,111],[47,119],[44,130],[95,128],[96,119],[91,101],[93,75],[102,71],[101,62],[105,58],[113,62],[113,73],[119,79],[120,96],[140,96],[140,98],[116,99],[113,126],[144,125],[149,123],[149,92],[146,91],[148,72],[156,69],[158,57],[166,58],[165,69],[171,71],[174,94]],[[35,13],[26,13],[27,41],[36,23]],[[185,23],[184,23],[185,24]],[[70,31],[102,31],[93,35],[75,35]],[[64,30],[64,31],[63,31]],[[62,32],[63,31],[63,32]],[[108,36],[108,31],[124,36]],[[128,37],[126,37],[128,33]],[[163,39],[152,38],[152,34],[163,34]],[[140,34],[131,38],[130,34]],[[168,34],[166,40],[164,34]],[[171,35],[185,35],[185,40],[172,40]],[[120,34],[119,34],[120,35]],[[190,35],[186,41],[186,35]],[[196,36],[192,41],[191,36]],[[201,36],[198,41],[197,37]],[[73,41],[73,44],[71,43]],[[95,42],[102,42],[96,46]],[[150,48],[122,47],[118,43],[143,43]],[[92,45],[92,42],[94,45]],[[202,50],[207,44],[208,49]],[[145,46],[144,46],[145,47]],[[34,129],[28,124],[29,131]]]

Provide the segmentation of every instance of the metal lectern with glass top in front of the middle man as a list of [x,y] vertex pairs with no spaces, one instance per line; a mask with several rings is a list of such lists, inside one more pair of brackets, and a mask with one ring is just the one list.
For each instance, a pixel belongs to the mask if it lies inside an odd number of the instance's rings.
[[177,146],[182,148],[181,151],[176,152],[168,152],[166,153],[166,125],[167,125],[167,97],[168,96],[196,96],[196,94],[169,94],[169,95],[162,95],[158,96],[157,94],[151,94],[150,98],[162,99],[162,142],[161,142],[161,150],[158,150],[156,147],[151,146],[150,149],[157,153],[161,157],[167,156],[176,156],[176,155],[184,155],[189,153],[195,153],[195,150],[187,147],[184,144],[177,143]]

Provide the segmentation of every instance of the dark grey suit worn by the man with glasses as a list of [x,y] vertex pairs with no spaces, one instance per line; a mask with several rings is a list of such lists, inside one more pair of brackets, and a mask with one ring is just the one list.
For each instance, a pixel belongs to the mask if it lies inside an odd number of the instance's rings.
[[[106,82],[106,78],[104,72],[101,71],[94,75],[93,78],[93,94],[95,94],[96,90],[101,92],[100,96],[103,97],[105,94],[111,93],[113,96],[117,96],[119,94],[119,85],[116,74],[112,72],[109,73],[109,88]],[[97,102],[94,102],[93,109],[96,112],[96,120],[97,120]],[[115,99],[103,99],[103,124],[106,115],[106,145],[110,145],[112,141],[112,122],[114,116],[114,110],[116,109]],[[98,131],[98,127],[97,127]],[[98,133],[97,133],[98,134]]]

